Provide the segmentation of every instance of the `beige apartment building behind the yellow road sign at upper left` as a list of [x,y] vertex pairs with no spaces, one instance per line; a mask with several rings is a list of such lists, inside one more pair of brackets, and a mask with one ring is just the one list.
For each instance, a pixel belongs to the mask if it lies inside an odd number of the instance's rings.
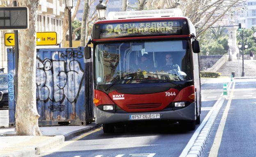
[[[58,41],[62,40],[62,25],[64,17],[64,0],[40,0],[37,15],[37,32],[55,31],[58,35]],[[5,33],[11,31],[0,31],[0,68],[5,68],[7,73],[7,48],[5,46]]]

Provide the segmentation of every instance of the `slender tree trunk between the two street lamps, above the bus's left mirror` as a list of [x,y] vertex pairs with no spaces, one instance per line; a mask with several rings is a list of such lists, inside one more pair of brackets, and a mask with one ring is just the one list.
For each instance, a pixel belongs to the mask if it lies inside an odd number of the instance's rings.
[[85,5],[84,5],[84,13],[82,17],[82,28],[81,28],[81,46],[85,46],[86,38],[87,38],[87,19],[89,17],[89,4],[90,0],[85,0]]

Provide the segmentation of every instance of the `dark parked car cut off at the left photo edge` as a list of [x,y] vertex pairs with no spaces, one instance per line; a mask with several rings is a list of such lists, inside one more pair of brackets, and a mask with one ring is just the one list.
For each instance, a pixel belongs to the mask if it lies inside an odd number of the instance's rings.
[[0,73],[0,108],[8,106],[8,78],[7,73]]

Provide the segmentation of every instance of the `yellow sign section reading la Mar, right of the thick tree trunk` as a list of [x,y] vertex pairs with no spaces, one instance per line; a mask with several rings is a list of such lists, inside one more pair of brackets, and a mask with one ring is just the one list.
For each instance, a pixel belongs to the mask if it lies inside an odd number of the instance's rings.
[[57,33],[37,32],[37,45],[57,45]]

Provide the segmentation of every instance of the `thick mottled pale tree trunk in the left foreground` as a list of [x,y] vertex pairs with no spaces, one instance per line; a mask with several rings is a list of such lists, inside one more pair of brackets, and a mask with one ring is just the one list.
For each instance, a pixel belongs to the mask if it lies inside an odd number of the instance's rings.
[[39,0],[19,0],[18,6],[29,9],[29,29],[19,34],[17,135],[41,135],[36,102],[36,20]]

